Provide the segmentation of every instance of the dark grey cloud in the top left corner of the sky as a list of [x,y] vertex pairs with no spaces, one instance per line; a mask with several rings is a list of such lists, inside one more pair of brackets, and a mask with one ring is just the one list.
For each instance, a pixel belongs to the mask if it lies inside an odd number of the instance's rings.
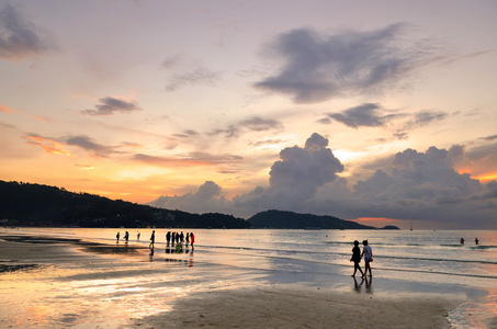
[[15,60],[55,49],[55,44],[18,8],[5,4],[0,10],[0,59]]

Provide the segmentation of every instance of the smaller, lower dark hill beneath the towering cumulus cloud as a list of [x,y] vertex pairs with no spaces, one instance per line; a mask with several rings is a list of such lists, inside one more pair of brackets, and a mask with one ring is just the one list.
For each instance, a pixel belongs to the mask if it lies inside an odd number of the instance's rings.
[[282,211],[262,212],[250,217],[248,222],[256,228],[374,229],[372,226],[365,226],[332,216],[317,216]]

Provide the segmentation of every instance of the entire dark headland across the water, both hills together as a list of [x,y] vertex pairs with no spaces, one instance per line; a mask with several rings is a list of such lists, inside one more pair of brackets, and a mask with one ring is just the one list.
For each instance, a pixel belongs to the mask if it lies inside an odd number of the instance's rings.
[[[157,208],[64,188],[0,181],[0,225],[178,228],[374,229],[332,216],[267,211],[249,219],[228,214],[192,214]],[[396,228],[396,227],[393,227]]]

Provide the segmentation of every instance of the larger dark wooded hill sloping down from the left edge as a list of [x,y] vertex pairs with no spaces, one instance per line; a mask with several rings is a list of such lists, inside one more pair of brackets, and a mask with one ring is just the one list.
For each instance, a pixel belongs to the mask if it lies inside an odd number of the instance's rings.
[[246,228],[231,215],[156,208],[64,188],[0,181],[0,225],[81,227]]

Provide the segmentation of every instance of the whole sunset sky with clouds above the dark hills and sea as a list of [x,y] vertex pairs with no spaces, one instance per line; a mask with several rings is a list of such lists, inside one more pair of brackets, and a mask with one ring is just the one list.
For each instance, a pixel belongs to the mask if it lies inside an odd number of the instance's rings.
[[0,180],[497,229],[495,31],[496,1],[0,0]]

